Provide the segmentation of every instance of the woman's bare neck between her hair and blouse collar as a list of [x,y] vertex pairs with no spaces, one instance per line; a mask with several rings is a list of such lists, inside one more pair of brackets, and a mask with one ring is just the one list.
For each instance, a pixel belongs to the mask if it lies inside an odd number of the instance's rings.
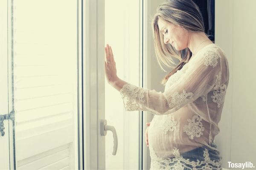
[[192,33],[189,37],[188,48],[194,56],[205,45],[212,44],[212,41],[204,34],[204,32]]

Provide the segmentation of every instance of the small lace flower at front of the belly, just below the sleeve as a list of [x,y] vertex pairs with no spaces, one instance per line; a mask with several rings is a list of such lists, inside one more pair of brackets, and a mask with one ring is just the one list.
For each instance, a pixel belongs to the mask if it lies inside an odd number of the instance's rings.
[[161,129],[165,134],[170,131],[174,131],[176,129],[177,121],[174,120],[173,115],[163,115],[163,120],[161,124]]

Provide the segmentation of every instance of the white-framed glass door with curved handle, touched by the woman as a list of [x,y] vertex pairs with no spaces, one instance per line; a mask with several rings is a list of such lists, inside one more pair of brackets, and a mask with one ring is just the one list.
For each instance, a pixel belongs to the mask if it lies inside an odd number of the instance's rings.
[[142,113],[125,111],[105,79],[105,46],[117,76],[142,82],[142,0],[85,0],[85,169],[141,169]]

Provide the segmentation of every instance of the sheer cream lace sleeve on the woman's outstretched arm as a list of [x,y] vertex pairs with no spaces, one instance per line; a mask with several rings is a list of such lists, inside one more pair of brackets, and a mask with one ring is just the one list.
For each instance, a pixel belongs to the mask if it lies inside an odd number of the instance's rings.
[[123,85],[120,94],[125,110],[150,111],[156,115],[169,114],[214,89],[218,76],[227,74],[227,70],[223,69],[226,66],[225,56],[216,48],[210,48],[194,57],[187,63],[188,68],[181,78],[164,93],[130,83]]

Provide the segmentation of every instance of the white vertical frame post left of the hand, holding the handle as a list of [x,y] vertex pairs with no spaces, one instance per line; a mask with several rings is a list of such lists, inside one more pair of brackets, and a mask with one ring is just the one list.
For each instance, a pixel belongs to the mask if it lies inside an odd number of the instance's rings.
[[83,6],[84,169],[105,168],[105,136],[100,135],[98,128],[98,120],[105,119],[105,60],[98,59],[105,56],[104,48],[101,48],[105,46],[103,7],[105,0],[85,0]]

